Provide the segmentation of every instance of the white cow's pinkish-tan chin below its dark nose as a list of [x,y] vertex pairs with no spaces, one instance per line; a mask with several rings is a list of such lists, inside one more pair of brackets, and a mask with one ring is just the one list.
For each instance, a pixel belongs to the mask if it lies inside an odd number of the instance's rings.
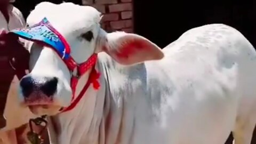
[[56,115],[60,113],[60,109],[62,109],[61,106],[57,105],[31,105],[28,106],[30,111],[37,116],[42,116],[42,115]]

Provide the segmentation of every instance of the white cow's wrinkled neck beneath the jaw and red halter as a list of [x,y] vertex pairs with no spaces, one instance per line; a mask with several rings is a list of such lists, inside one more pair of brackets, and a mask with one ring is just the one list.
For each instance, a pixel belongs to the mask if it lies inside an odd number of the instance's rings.
[[[117,63],[107,54],[99,55],[102,61],[98,61],[96,69],[101,73],[101,88],[94,91],[90,86],[73,110],[53,117],[58,130],[58,143],[113,144],[121,141],[130,143],[132,139],[134,111],[124,102],[125,92],[117,88],[123,79],[120,77],[123,70],[116,67]],[[82,77],[78,85],[84,85],[87,77]],[[113,83],[110,85],[109,82]]]

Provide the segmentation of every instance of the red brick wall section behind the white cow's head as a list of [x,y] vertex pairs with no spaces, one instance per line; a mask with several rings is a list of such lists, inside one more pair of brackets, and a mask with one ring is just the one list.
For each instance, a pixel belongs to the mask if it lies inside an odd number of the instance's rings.
[[82,3],[95,7],[103,14],[101,25],[106,31],[133,33],[132,0],[82,0]]

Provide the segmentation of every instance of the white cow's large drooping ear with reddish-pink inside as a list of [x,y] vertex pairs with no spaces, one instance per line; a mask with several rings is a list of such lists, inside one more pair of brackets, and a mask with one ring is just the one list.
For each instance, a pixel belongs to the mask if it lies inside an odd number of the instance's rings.
[[106,34],[103,51],[122,65],[134,65],[164,57],[161,49],[147,38],[121,31]]

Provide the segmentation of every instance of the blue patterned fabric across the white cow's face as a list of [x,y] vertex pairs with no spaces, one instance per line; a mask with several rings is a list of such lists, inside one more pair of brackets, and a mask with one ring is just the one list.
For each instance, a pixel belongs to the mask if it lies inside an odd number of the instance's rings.
[[28,39],[29,41],[39,41],[51,45],[59,53],[62,59],[68,59],[69,53],[66,53],[66,47],[54,32],[46,25],[50,25],[49,21],[44,18],[40,23],[32,27],[23,29],[14,29],[10,33],[19,37]]

